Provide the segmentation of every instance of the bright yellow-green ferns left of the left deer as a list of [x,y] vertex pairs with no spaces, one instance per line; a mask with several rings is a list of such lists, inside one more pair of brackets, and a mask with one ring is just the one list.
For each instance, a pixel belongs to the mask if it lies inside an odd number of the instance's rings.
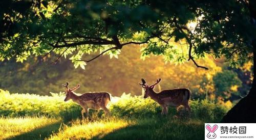
[[39,96],[34,94],[10,94],[0,92],[0,115],[9,117],[47,116],[70,120],[80,116],[80,106],[64,102],[63,96]]

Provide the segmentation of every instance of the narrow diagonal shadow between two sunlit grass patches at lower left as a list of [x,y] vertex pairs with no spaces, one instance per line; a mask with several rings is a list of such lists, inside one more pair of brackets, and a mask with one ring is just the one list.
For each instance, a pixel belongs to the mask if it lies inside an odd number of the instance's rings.
[[49,137],[53,132],[58,131],[60,124],[61,122],[56,122],[6,139],[45,139],[46,137]]

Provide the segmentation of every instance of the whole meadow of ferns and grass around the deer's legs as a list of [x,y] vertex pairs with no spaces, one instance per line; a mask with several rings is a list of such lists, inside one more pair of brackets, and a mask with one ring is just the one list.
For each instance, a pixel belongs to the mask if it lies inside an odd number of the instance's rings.
[[161,116],[153,100],[123,94],[111,98],[111,117],[90,110],[82,120],[80,106],[64,98],[0,90],[0,139],[203,139],[204,123],[219,122],[231,107],[191,100],[191,114],[179,107]]

